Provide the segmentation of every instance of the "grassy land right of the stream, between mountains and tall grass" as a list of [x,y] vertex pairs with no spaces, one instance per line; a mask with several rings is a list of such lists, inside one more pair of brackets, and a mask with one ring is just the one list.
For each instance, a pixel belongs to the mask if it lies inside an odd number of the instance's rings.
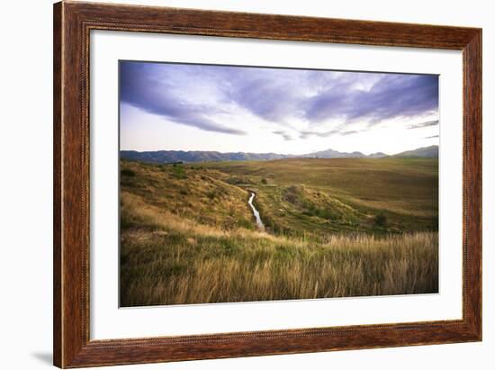
[[[438,228],[437,159],[307,158],[197,166],[217,169],[256,191],[260,212],[275,230]],[[384,224],[375,222],[378,215],[385,217]]]

